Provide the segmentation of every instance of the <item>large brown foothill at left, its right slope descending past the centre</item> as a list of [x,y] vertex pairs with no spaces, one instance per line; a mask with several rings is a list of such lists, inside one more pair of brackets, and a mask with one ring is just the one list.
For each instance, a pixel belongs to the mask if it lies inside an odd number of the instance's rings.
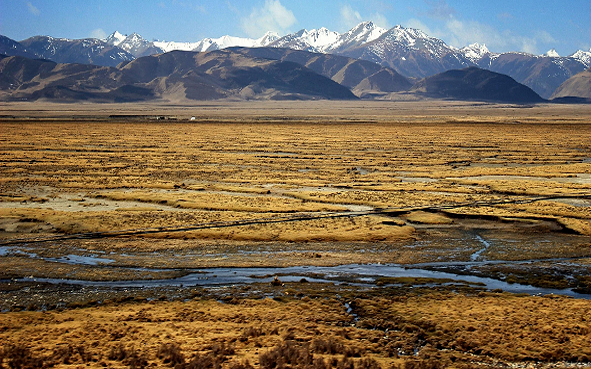
[[355,99],[351,91],[292,62],[230,50],[175,51],[118,67],[2,57],[3,100]]

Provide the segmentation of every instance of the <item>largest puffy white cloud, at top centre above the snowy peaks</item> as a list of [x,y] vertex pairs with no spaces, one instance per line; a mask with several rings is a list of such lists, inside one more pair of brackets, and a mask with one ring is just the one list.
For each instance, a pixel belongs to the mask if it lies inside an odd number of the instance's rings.
[[267,31],[284,33],[297,23],[293,12],[279,0],[265,0],[262,8],[255,8],[241,20],[242,30],[250,37],[260,37]]

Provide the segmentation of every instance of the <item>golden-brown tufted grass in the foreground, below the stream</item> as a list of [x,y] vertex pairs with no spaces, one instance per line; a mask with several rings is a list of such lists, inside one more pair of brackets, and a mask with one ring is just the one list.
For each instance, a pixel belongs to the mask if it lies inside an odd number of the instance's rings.
[[587,300],[449,292],[343,297],[320,287],[328,286],[310,286],[319,291],[312,298],[286,286],[276,299],[196,297],[2,314],[0,337],[5,362],[16,357],[56,368],[566,367],[556,363],[591,358]]

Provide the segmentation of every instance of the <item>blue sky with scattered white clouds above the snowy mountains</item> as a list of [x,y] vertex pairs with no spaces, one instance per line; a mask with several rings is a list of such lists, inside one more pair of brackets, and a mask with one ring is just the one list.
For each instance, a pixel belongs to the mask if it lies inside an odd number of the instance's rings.
[[591,0],[0,0],[0,34],[16,40],[115,30],[149,40],[256,38],[267,30],[344,32],[365,20],[420,28],[456,47],[485,43],[495,52],[591,48]]

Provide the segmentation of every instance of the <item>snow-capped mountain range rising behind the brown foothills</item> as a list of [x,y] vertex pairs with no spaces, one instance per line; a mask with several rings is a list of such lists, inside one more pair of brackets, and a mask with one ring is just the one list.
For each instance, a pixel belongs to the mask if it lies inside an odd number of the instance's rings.
[[372,61],[415,79],[450,69],[477,66],[507,74],[545,98],[550,97],[562,82],[591,67],[591,50],[579,50],[567,57],[558,55],[554,49],[543,55],[494,53],[483,44],[456,48],[418,29],[402,26],[384,29],[373,22],[362,22],[345,33],[323,27],[303,29],[283,37],[268,32],[259,39],[226,35],[196,42],[148,41],[137,33],[124,35],[116,31],[102,40],[35,36],[21,41],[20,45],[14,43],[19,44],[10,39],[0,43],[0,53],[11,55],[16,52],[14,50],[22,49],[19,52],[58,62],[107,66],[174,50],[205,52],[229,47],[289,48],[336,54]]

